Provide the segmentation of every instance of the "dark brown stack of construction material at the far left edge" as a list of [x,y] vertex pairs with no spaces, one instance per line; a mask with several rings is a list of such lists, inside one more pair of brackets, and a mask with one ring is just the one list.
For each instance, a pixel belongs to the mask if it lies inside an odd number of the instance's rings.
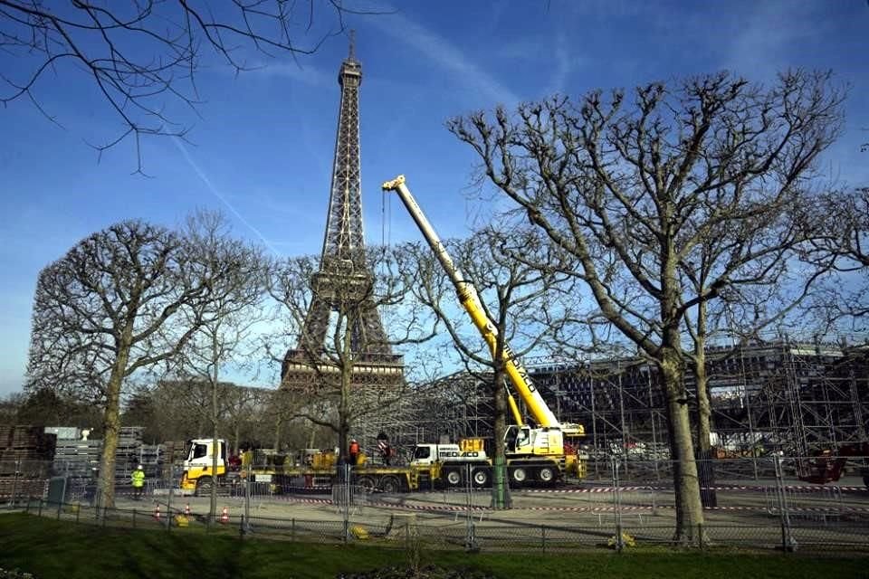
[[43,496],[55,441],[40,426],[0,426],[0,498]]

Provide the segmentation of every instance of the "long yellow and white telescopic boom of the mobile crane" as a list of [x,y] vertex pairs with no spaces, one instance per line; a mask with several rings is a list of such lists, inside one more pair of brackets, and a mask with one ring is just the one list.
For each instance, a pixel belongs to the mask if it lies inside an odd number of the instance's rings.
[[[480,296],[477,294],[477,290],[474,288],[473,283],[464,279],[462,271],[455,266],[453,259],[446,251],[446,247],[444,247],[444,243],[441,242],[437,233],[435,233],[435,228],[432,227],[432,224],[425,218],[425,214],[423,213],[423,210],[420,209],[419,204],[416,203],[414,195],[411,195],[410,190],[407,188],[407,185],[405,185],[405,176],[400,175],[392,181],[387,181],[382,185],[382,188],[384,191],[396,192],[398,197],[401,199],[407,212],[414,219],[420,232],[423,233],[425,241],[428,243],[429,247],[432,248],[432,251],[435,252],[437,261],[441,262],[444,271],[446,271],[450,280],[453,281],[459,301],[471,317],[473,325],[477,327],[483,339],[488,344],[489,349],[492,352],[492,358],[497,356],[496,346],[498,329],[492,324],[492,320],[489,319],[485,310],[482,308]],[[513,387],[521,396],[525,405],[528,407],[529,413],[534,421],[537,422],[539,427],[560,428],[562,432],[573,435],[584,433],[582,426],[578,424],[562,424],[559,422],[555,413],[549,409],[549,406],[543,400],[540,392],[537,390],[534,383],[531,382],[528,372],[522,365],[520,365],[516,356],[513,355],[510,347],[506,344],[503,345],[501,362],[503,362],[504,370],[510,378],[511,384],[513,384]]]

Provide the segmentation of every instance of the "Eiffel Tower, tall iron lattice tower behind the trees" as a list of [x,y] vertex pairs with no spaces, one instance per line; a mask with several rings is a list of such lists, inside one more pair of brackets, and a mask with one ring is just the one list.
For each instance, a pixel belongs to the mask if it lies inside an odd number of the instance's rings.
[[[350,33],[349,56],[341,63],[338,135],[332,162],[329,214],[320,256],[320,270],[311,280],[313,297],[295,349],[287,352],[282,365],[282,384],[316,387],[315,370],[329,371],[325,354],[332,312],[342,301],[358,305],[350,316],[351,351],[354,358],[352,384],[394,385],[403,377],[402,356],[392,353],[387,335],[370,296],[374,280],[368,267],[362,229],[362,195],[359,182],[359,85],[362,66],[356,60],[354,35]],[[330,368],[334,372],[337,368]]]

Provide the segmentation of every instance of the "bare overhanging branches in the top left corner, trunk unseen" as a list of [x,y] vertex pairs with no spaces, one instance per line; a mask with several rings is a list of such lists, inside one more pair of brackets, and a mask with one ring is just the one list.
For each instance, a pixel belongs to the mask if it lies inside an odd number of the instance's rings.
[[0,73],[0,102],[30,100],[58,122],[41,104],[46,77],[81,75],[123,127],[95,147],[133,138],[141,171],[142,137],[186,135],[188,128],[167,109],[196,109],[201,102],[196,74],[209,50],[236,72],[282,53],[297,59],[343,33],[349,14],[377,13],[342,0],[232,0],[219,7],[196,0],[0,0],[0,54],[8,63]]

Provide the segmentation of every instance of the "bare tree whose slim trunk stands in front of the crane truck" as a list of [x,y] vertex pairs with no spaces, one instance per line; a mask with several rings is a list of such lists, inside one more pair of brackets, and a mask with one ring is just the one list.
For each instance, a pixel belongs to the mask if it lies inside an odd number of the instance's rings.
[[[510,234],[503,233],[506,229]],[[473,375],[492,381],[493,407],[493,497],[495,508],[509,508],[506,498],[506,446],[508,384],[506,362],[518,362],[530,352],[539,352],[547,337],[560,326],[564,311],[551,308],[552,290],[564,282],[558,267],[539,270],[525,260],[557,265],[540,235],[528,227],[486,227],[467,240],[445,243],[456,267],[479,296],[479,307],[489,319],[494,343],[482,339],[465,312],[459,311],[456,289],[434,252],[427,245],[411,246],[421,273],[413,287],[416,298],[432,308],[452,339],[452,346]],[[518,259],[518,255],[522,259]],[[564,269],[564,268],[560,268]],[[459,296],[463,302],[467,295]],[[505,353],[507,353],[505,355]],[[508,422],[510,421],[510,422]]]

